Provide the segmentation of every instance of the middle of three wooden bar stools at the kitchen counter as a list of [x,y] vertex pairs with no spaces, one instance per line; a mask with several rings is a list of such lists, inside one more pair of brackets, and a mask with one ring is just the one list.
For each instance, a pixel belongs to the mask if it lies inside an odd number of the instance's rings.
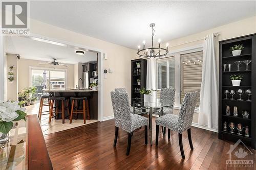
[[[49,124],[51,123],[51,119],[58,116],[58,113],[61,113],[61,117],[62,117],[62,124],[65,124],[65,118],[70,116],[69,113],[69,100],[67,100],[66,98],[63,97],[51,97],[49,98],[50,100],[50,116],[49,116]],[[58,102],[61,102],[61,109],[58,109]],[[67,102],[67,106],[65,107],[65,102]],[[53,107],[55,103],[55,107]],[[53,111],[53,109],[55,109],[55,111]],[[68,116],[65,117],[65,110],[68,111]],[[53,113],[55,113],[55,115],[53,116]]]

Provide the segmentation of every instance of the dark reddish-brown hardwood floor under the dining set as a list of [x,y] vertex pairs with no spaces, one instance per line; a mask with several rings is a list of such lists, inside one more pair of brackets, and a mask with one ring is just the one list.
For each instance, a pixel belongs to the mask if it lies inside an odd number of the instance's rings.
[[[171,132],[168,140],[167,135],[159,133],[156,147],[155,128],[153,124],[152,146],[144,145],[143,128],[134,132],[129,156],[126,156],[127,133],[120,128],[117,145],[113,147],[114,119],[48,134],[45,140],[54,169],[246,169],[226,166],[227,152],[233,143],[218,139],[215,132],[192,127],[193,151],[184,133],[185,159],[182,159],[178,134]],[[250,151],[253,154],[248,152],[249,159],[256,162],[255,150]]]

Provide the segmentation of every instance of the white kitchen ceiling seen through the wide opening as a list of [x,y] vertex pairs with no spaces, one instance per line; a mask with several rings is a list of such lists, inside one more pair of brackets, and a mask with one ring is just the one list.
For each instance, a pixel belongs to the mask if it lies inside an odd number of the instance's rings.
[[40,61],[53,61],[53,58],[56,58],[57,62],[67,64],[97,61],[96,53],[86,52],[84,55],[77,55],[76,49],[78,48],[70,45],[60,46],[30,38],[6,36],[6,53],[19,54],[20,58]]

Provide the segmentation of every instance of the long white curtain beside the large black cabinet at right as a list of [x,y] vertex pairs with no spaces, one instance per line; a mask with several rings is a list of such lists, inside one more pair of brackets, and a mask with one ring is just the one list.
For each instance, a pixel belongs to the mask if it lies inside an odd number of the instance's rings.
[[204,40],[199,125],[218,129],[218,67],[214,39],[214,34],[210,34]]

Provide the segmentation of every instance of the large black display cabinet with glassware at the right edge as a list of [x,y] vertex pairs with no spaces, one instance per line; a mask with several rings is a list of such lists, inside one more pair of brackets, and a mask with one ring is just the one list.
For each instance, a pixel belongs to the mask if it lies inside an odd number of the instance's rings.
[[[241,55],[232,56],[230,47],[239,44],[244,46]],[[246,70],[244,62],[240,64],[238,70],[235,62],[246,60],[251,60],[248,64],[248,70]],[[224,70],[224,64],[227,64],[226,70]],[[228,64],[231,64],[230,71]],[[240,86],[232,86],[231,75],[243,76]],[[239,89],[243,93],[241,95],[242,100],[239,100]],[[251,90],[250,101],[248,101],[248,95],[245,93],[248,89]],[[229,92],[227,98],[226,90]],[[230,94],[231,90],[235,92],[233,100]],[[226,113],[228,107],[230,114]],[[236,114],[236,108],[234,107],[237,107],[238,114]],[[248,118],[243,116],[244,111],[249,113]],[[224,127],[225,123],[227,124],[226,129]],[[233,133],[229,128],[230,123],[234,125]],[[238,125],[243,127],[241,133],[237,129]],[[252,149],[256,149],[256,34],[219,42],[219,138],[234,142],[241,139],[245,144],[251,145]]]

